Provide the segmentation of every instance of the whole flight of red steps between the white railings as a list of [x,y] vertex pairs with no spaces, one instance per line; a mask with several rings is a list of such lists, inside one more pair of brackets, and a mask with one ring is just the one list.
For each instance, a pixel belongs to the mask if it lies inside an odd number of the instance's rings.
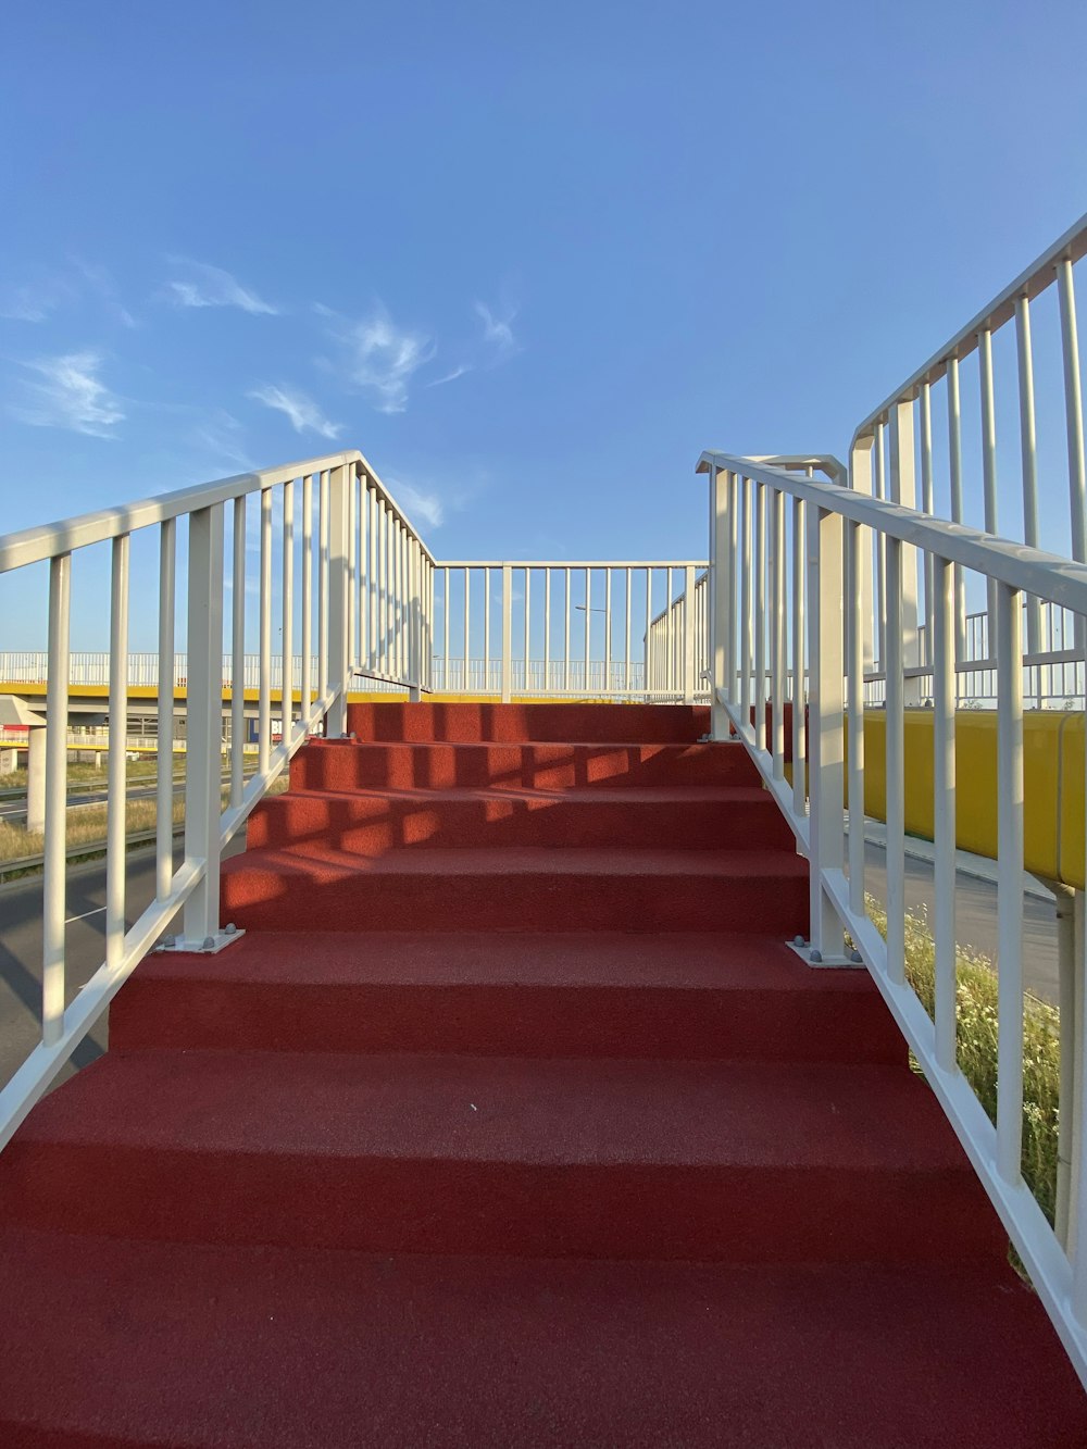
[[706,714],[365,706],[0,1158],[0,1442],[1087,1443]]

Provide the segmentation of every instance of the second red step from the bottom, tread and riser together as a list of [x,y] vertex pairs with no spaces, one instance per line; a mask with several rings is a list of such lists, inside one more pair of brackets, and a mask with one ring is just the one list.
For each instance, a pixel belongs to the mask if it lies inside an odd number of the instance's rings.
[[16,1135],[0,1208],[62,1232],[372,1252],[1006,1249],[935,1097],[875,1065],[110,1051]]

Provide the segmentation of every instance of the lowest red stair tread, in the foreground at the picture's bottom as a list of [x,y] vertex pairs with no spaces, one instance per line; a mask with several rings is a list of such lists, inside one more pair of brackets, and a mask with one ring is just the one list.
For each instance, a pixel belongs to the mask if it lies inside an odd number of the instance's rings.
[[1006,1265],[429,1258],[0,1230],[9,1449],[1067,1449]]

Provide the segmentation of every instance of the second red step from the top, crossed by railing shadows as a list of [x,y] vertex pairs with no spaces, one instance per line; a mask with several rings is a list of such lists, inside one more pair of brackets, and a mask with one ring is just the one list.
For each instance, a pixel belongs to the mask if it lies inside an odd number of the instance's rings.
[[299,790],[758,785],[742,745],[357,745],[316,740],[291,761]]

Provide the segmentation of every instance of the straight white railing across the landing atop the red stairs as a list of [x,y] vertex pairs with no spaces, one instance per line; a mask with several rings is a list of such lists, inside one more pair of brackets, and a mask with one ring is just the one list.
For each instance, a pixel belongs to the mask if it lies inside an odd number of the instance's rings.
[[438,564],[435,688],[503,700],[706,697],[697,598],[690,626],[684,611],[704,569],[704,559]]

